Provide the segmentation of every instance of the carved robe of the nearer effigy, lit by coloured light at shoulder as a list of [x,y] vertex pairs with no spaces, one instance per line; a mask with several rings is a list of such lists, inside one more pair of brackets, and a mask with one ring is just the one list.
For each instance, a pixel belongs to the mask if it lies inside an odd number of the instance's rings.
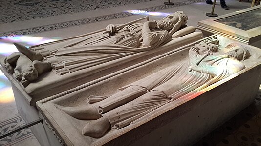
[[203,55],[190,51],[190,62],[175,64],[120,88],[119,90],[125,90],[129,87],[135,88],[139,86],[146,90],[145,94],[137,97],[131,102],[106,113],[103,113],[103,108],[110,106],[110,104],[118,104],[118,100],[123,99],[121,99],[121,97],[117,97],[118,99],[110,99],[110,97],[108,97],[100,103],[95,103],[95,106],[97,109],[101,109],[100,113],[102,116],[109,119],[113,129],[120,129],[148,114],[152,110],[165,105],[170,100],[173,101],[197,88],[198,90],[205,88],[218,80],[233,73],[237,73],[242,70],[242,66],[244,66],[243,63],[236,59],[225,58],[224,56],[209,56],[206,57],[198,66],[202,68],[215,68],[218,70],[217,76],[212,78],[212,76],[206,73],[195,71],[188,72],[188,67],[191,64],[196,64],[202,56]]

